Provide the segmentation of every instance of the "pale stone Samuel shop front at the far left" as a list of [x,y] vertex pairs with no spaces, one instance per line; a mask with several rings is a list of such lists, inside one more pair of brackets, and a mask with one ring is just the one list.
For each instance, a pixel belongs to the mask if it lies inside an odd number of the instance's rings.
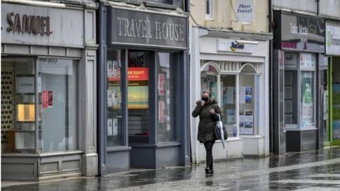
[[36,5],[1,4],[1,180],[96,175],[96,6]]

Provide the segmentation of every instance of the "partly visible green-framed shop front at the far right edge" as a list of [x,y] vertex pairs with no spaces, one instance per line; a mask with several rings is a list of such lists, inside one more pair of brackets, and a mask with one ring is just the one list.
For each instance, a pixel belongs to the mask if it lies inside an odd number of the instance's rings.
[[340,145],[340,23],[326,22],[324,146]]

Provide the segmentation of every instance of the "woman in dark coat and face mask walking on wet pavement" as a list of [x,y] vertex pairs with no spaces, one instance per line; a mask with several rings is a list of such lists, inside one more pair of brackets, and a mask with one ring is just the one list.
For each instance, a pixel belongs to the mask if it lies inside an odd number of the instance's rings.
[[196,108],[193,110],[193,117],[200,116],[200,124],[198,125],[197,139],[205,146],[206,163],[205,173],[213,174],[214,168],[212,166],[212,146],[215,144],[215,125],[218,120],[218,114],[221,113],[220,107],[215,100],[212,100],[211,94],[204,91],[202,100],[196,102]]

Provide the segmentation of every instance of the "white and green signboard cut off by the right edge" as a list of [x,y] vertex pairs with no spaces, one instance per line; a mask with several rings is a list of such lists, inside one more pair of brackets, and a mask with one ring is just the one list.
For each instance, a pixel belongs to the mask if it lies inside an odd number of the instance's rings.
[[326,23],[326,54],[340,55],[340,25]]

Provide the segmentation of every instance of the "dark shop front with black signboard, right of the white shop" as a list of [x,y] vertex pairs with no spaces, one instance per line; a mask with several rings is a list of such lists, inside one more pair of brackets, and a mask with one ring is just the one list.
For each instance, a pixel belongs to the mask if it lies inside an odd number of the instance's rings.
[[323,147],[322,18],[274,11],[273,153]]

